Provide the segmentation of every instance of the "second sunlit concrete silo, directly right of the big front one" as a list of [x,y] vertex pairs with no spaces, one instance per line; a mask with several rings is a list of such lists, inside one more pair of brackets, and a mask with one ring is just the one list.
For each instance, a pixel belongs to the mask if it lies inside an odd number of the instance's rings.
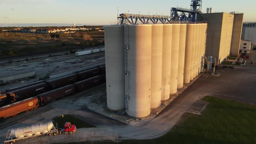
[[152,25],[151,44],[151,108],[161,105],[163,25]]

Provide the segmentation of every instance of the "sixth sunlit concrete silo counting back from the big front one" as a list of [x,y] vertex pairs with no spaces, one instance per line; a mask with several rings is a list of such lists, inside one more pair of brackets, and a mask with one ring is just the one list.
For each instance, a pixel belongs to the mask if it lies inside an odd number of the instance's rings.
[[185,64],[184,64],[184,83],[190,83],[190,69],[191,69],[191,59],[192,59],[192,43],[194,37],[194,25],[187,25],[187,37],[186,37],[186,50],[185,50]]

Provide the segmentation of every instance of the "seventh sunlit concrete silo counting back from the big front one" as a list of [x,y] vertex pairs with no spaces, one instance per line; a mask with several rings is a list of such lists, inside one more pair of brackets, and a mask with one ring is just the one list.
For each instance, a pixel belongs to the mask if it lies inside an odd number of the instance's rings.
[[194,28],[193,28],[194,30],[193,30],[193,41],[192,41],[190,80],[193,80],[193,79],[194,79],[197,24],[193,24],[193,27],[194,27]]

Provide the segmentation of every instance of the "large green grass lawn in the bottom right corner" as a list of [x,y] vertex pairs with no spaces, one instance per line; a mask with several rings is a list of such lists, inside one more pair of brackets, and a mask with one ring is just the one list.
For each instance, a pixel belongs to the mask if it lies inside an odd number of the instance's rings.
[[[120,143],[256,144],[256,105],[215,97],[205,97],[204,100],[210,103],[202,115],[184,114],[181,122],[163,137]],[[92,144],[112,144],[112,142],[93,142]]]

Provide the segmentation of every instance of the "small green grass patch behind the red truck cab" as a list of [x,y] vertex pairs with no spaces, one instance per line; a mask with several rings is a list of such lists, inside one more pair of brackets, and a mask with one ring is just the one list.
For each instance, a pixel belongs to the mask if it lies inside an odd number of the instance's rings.
[[53,123],[57,123],[59,128],[64,128],[64,125],[67,121],[71,122],[71,124],[75,124],[76,128],[95,128],[94,125],[91,125],[85,121],[75,118],[72,115],[64,115],[63,118],[62,116],[53,118]]

